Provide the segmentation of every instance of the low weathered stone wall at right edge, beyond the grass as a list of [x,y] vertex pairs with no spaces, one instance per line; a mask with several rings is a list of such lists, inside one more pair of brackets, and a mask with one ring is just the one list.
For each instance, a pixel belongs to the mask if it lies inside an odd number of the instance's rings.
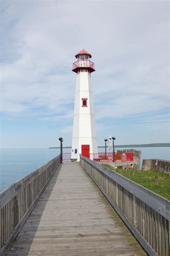
[[142,170],[146,171],[150,169],[170,175],[170,161],[162,159],[143,159]]

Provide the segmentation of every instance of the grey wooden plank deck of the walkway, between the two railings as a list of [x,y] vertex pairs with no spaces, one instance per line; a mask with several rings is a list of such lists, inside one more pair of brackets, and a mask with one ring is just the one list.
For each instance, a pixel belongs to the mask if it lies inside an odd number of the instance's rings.
[[146,255],[79,163],[58,167],[7,255]]

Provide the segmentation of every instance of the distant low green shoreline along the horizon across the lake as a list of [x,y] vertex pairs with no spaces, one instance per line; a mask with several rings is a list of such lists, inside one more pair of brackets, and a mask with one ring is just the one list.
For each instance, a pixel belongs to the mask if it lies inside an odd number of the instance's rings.
[[[170,143],[115,145],[114,147],[115,148],[116,147],[170,147]],[[60,148],[60,147],[49,147],[49,148]],[[71,147],[63,147],[63,148],[71,148]],[[105,148],[105,146],[98,146],[98,148]]]

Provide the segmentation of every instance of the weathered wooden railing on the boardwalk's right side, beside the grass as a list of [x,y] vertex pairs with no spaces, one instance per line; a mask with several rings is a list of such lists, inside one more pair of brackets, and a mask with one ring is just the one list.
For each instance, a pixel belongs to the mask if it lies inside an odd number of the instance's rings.
[[149,255],[170,255],[170,201],[80,156],[80,164]]

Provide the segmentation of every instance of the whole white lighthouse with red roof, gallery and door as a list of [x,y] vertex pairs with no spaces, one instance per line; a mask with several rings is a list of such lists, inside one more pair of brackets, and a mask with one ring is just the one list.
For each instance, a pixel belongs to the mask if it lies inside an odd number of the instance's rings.
[[82,49],[75,57],[77,61],[72,71],[77,75],[71,159],[80,161],[79,154],[90,158],[91,153],[98,153],[91,86],[91,73],[95,69],[89,52]]

